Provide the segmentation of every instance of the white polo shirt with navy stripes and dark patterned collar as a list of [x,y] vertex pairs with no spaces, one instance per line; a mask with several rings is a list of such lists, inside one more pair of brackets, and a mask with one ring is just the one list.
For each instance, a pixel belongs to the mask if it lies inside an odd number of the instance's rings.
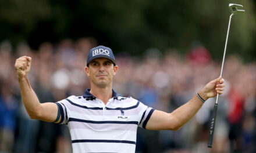
[[145,128],[154,109],[112,91],[106,105],[90,89],[56,103],[61,123],[69,126],[73,153],[135,152],[137,127]]

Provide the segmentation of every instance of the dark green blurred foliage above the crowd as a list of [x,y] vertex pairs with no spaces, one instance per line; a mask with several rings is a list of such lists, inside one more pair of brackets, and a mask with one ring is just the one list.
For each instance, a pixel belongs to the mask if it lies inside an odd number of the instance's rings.
[[176,48],[186,53],[200,41],[216,59],[222,58],[229,20],[228,3],[244,5],[246,13],[232,19],[227,54],[255,57],[255,2],[248,1],[0,1],[0,39],[43,41],[95,37],[115,52],[142,54]]

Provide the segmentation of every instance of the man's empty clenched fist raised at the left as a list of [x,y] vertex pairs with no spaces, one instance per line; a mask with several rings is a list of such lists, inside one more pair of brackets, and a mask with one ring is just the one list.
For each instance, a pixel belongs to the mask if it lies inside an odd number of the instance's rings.
[[19,59],[16,59],[15,70],[18,78],[23,78],[30,70],[31,66],[31,57],[22,56]]

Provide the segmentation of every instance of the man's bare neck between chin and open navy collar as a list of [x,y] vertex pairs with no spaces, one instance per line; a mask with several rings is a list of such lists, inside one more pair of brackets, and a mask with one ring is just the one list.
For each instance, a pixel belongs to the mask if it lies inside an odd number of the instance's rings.
[[93,94],[97,99],[103,101],[104,104],[108,103],[108,100],[112,98],[112,85],[106,86],[105,88],[98,88],[91,83],[90,93]]

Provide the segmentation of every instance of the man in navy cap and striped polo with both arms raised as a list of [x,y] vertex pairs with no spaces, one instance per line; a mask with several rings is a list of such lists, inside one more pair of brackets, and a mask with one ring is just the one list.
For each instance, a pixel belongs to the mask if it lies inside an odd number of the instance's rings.
[[85,71],[91,89],[83,96],[70,96],[57,103],[40,103],[27,77],[31,57],[16,60],[22,100],[31,119],[65,123],[69,126],[73,152],[135,152],[137,126],[149,130],[178,130],[201,108],[204,101],[222,94],[224,80],[209,82],[186,104],[166,113],[147,107],[112,89],[118,72],[110,48],[90,50]]

